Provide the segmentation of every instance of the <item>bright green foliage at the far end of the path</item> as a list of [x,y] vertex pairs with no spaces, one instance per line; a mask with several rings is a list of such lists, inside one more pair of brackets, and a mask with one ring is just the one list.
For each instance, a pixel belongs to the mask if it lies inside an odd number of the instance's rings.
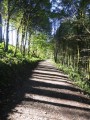
[[43,32],[36,31],[31,39],[31,56],[41,59],[47,59],[50,52],[50,43],[48,42],[48,35]]

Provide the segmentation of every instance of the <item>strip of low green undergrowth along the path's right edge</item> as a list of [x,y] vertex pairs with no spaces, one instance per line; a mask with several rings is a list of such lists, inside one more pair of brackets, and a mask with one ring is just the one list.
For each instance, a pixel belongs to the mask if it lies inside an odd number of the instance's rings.
[[56,64],[57,68],[63,71],[65,74],[69,75],[69,79],[74,82],[76,86],[82,89],[82,91],[89,95],[90,97],[90,80],[87,79],[84,72],[81,72],[77,69],[73,69],[73,67]]

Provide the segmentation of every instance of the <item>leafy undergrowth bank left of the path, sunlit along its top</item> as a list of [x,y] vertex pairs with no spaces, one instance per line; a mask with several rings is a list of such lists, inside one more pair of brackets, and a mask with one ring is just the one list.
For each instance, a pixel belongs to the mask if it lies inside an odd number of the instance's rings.
[[34,69],[40,58],[23,56],[20,51],[14,56],[15,47],[9,45],[8,52],[4,51],[4,44],[0,43],[0,88],[15,85],[15,82],[26,77],[28,70]]

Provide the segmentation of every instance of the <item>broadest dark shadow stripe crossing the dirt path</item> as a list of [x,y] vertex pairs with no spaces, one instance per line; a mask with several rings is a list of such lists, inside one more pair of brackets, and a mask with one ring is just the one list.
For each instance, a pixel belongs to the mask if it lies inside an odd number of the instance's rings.
[[90,101],[88,101],[89,99],[82,97],[80,95],[73,95],[69,93],[57,92],[57,91],[52,91],[52,90],[47,90],[47,89],[45,90],[45,89],[40,89],[38,87],[35,88],[34,85],[35,85],[35,81],[34,81],[34,84],[32,84],[32,87],[30,89],[27,88],[27,93],[90,104]]

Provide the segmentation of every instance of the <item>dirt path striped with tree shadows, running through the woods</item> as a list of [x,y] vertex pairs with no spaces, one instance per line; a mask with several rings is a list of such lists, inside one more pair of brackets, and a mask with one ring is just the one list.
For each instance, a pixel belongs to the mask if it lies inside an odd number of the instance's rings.
[[9,92],[0,120],[90,120],[90,99],[49,61]]

